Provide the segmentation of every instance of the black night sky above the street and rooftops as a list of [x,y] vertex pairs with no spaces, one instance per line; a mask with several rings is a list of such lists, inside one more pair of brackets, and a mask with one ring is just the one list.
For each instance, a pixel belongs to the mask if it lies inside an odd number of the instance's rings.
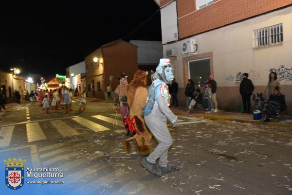
[[65,74],[66,67],[112,40],[161,40],[159,7],[153,0],[3,2],[0,69],[5,71],[17,67],[23,74]]

